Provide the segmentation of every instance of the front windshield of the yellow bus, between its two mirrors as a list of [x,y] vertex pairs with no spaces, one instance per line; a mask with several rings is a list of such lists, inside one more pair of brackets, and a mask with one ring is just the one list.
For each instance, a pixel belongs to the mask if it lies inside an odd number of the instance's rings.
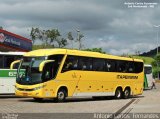
[[39,65],[45,57],[23,57],[17,71],[16,81],[19,84],[32,85],[42,82]]

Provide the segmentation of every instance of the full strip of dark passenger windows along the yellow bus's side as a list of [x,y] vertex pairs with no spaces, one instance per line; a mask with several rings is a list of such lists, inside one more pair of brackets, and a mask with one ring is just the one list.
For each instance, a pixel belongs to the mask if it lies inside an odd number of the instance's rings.
[[69,70],[140,73],[143,71],[143,63],[114,59],[67,56],[62,72]]

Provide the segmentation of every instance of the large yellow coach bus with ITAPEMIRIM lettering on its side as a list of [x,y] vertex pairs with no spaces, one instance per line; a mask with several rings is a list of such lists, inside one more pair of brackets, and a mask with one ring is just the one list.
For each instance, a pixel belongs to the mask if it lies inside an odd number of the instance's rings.
[[[22,73],[23,72],[23,73]],[[17,70],[17,96],[62,102],[73,96],[129,98],[143,92],[140,59],[69,49],[26,53]]]

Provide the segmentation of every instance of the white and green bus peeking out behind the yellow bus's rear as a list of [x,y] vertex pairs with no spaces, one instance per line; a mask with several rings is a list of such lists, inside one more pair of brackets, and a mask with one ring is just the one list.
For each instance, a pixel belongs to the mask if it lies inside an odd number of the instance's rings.
[[152,65],[144,64],[144,89],[151,89],[153,80]]

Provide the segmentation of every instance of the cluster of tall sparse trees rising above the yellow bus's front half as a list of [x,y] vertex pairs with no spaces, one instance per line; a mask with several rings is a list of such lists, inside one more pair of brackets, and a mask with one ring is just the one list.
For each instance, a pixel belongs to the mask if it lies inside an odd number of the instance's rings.
[[67,33],[67,38],[62,37],[60,31],[58,29],[41,29],[38,27],[32,27],[30,36],[33,42],[33,45],[36,44],[36,41],[39,41],[38,43],[41,43],[41,48],[48,48],[48,47],[58,47],[63,48],[66,47],[70,41],[73,49],[73,42],[77,42],[78,45],[75,45],[77,47],[74,47],[76,49],[81,50],[84,46],[82,43],[82,40],[84,35],[80,33],[80,31],[77,31],[77,36],[74,38],[72,35],[72,32]]

